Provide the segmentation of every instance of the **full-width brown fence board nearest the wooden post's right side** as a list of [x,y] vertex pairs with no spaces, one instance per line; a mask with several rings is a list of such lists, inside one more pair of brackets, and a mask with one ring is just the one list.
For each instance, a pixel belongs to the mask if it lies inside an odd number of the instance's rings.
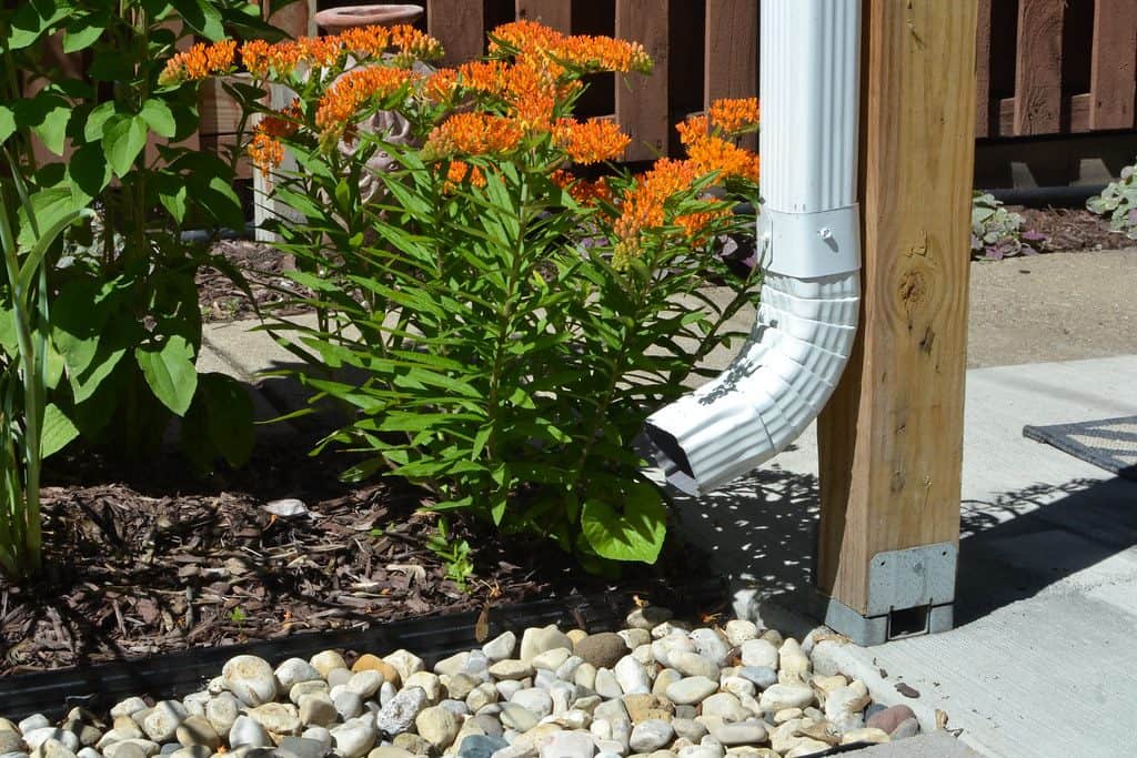
[[1014,76],[1014,133],[1062,131],[1062,8],[1064,0],[1020,0]]

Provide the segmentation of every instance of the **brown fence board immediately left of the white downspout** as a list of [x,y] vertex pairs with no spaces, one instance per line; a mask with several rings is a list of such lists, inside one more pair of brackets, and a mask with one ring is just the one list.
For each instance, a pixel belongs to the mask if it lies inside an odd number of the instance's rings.
[[[719,98],[758,94],[758,3],[754,0],[707,0],[703,109]],[[757,135],[740,141],[757,147]]]

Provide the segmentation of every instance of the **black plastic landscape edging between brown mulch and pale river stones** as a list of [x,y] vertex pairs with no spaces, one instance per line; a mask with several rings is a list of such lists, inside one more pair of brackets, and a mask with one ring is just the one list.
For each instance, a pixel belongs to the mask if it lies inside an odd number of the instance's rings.
[[[725,600],[725,584],[717,578],[673,588],[667,597],[652,593],[656,605],[697,622],[696,614],[717,608]],[[634,590],[599,595],[568,595],[513,606],[491,607],[489,636],[506,630],[557,624],[588,632],[622,628],[632,608]],[[385,655],[405,648],[428,666],[463,650],[481,647],[474,626],[479,613],[442,614],[375,624],[364,630],[297,634],[262,642],[193,648],[141,659],[116,660],[53,672],[19,674],[0,680],[0,716],[18,720],[32,714],[60,718],[74,706],[108,709],[131,695],[179,698],[221,675],[233,656],[252,655],[274,666],[287,658],[308,658],[321,650],[354,650]]]

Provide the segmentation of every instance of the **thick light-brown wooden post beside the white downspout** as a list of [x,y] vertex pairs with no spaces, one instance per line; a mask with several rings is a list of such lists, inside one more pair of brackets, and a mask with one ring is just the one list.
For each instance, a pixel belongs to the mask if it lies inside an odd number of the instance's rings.
[[[819,420],[816,580],[846,618],[873,620],[885,639],[896,632],[894,610],[927,610],[946,600],[951,623],[963,457],[976,17],[977,0],[864,2],[864,289],[853,357]],[[888,572],[899,570],[902,595],[920,580],[904,574],[904,556],[894,551],[932,545],[931,558],[951,561],[949,597],[939,588],[938,598],[905,606],[880,595],[872,582],[878,569],[886,584]],[[877,615],[882,603],[883,619]],[[931,624],[935,631],[935,619]]]

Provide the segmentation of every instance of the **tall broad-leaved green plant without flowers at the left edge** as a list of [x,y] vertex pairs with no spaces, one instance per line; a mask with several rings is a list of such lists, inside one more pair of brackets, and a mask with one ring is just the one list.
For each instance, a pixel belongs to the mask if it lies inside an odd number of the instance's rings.
[[[198,128],[197,89],[161,77],[191,35],[273,33],[258,14],[243,0],[36,0],[0,11],[10,74],[0,83],[0,141],[20,156],[15,170],[30,207],[41,226],[98,211],[44,260],[48,363],[65,378],[51,395],[85,438],[115,452],[147,455],[169,419],[186,415],[186,449],[200,465],[219,456],[238,464],[249,452],[251,433],[233,433],[251,430],[244,394],[225,377],[199,378],[194,366],[194,275],[226,265],[182,240],[185,228],[243,226],[234,160],[182,143]],[[44,56],[52,35],[64,52],[84,56],[83,78]],[[42,86],[23,86],[15,72]],[[61,159],[38,165],[33,134]],[[27,223],[17,234],[24,247],[34,236]]]

